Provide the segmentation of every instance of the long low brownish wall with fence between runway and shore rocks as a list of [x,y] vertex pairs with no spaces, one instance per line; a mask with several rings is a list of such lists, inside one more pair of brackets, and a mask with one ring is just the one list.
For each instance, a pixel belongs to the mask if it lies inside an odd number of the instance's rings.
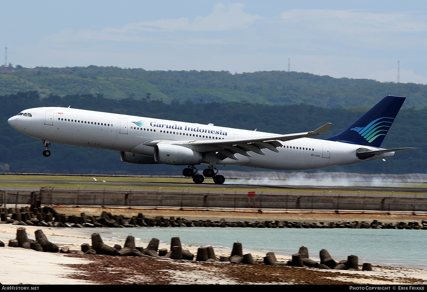
[[426,212],[426,193],[342,194],[262,193],[248,197],[244,192],[197,193],[177,191],[62,190],[37,192],[0,190],[0,204],[265,208],[282,210],[378,210]]

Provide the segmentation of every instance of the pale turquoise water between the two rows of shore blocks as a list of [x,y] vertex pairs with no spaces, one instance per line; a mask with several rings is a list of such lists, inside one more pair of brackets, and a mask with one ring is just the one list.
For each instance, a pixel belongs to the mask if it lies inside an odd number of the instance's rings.
[[[308,248],[310,258],[319,258],[321,249],[328,250],[334,260],[346,260],[351,254],[359,264],[427,269],[427,231],[395,229],[297,229],[297,228],[97,228],[102,238],[149,242],[156,237],[170,243],[179,237],[182,244],[232,248],[241,242],[244,252],[273,251],[291,256],[301,245]],[[137,244],[138,245],[138,244]],[[146,246],[141,244],[141,246]]]

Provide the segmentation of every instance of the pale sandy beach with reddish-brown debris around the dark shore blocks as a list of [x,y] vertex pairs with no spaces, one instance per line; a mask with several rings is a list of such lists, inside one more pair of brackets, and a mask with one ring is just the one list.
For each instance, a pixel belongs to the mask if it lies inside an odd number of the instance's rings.
[[[59,212],[64,213],[65,211],[63,209]],[[81,212],[82,210],[78,211]],[[86,212],[88,211],[86,210]],[[132,210],[132,212],[135,215],[135,210]],[[98,211],[94,213],[99,214]],[[150,216],[155,213],[162,213],[164,216],[168,216],[164,210],[144,211],[144,214],[149,214]],[[175,216],[183,216],[176,212],[174,214]],[[228,214],[227,216],[216,214],[212,216],[213,214],[209,212],[208,215],[210,219],[219,216],[238,217],[240,220],[242,220],[242,217],[250,216],[250,214]],[[311,216],[310,218],[313,219],[313,214],[294,215],[295,218]],[[203,214],[186,214],[186,218],[193,216],[201,217]],[[261,215],[255,214],[254,216],[260,217]],[[262,214],[262,217],[264,216],[269,217],[270,215]],[[275,216],[277,217],[277,214]],[[333,217],[333,214],[329,214],[324,219],[329,220],[333,219]],[[368,217],[371,218],[371,216]],[[348,220],[351,219],[347,218]],[[391,218],[391,221],[403,219],[410,221],[408,217],[394,217]],[[420,216],[416,220],[420,221]],[[0,240],[7,246],[9,239],[16,238],[16,229],[19,227],[22,226],[1,224]],[[25,226],[25,228],[29,239],[35,239],[34,232],[37,229],[42,229],[50,242],[57,244],[59,247],[67,246],[72,252],[70,254],[59,254],[23,248],[0,248],[0,261],[4,266],[9,267],[0,276],[0,283],[2,284],[427,284],[427,270],[423,269],[373,266],[373,271],[362,272],[221,262],[205,263],[153,257],[81,255],[75,254],[74,251],[80,250],[83,243],[91,244],[90,232],[85,228],[43,228],[32,226]],[[102,236],[102,228],[97,228],[97,230]],[[126,238],[104,240],[104,243],[110,246],[119,244],[123,247],[125,240]],[[136,242],[136,245],[145,248],[147,242]],[[170,246],[163,245],[159,246],[159,248],[169,249]],[[197,248],[197,246],[183,246],[183,249],[188,249],[193,254],[197,253]],[[244,247],[243,253],[247,253]],[[215,254],[216,257],[229,256],[230,251],[215,248]],[[262,262],[265,254],[252,253],[252,256],[255,261]],[[289,255],[276,254],[276,258],[279,262],[290,260]],[[319,259],[313,258],[313,260],[318,261]]]

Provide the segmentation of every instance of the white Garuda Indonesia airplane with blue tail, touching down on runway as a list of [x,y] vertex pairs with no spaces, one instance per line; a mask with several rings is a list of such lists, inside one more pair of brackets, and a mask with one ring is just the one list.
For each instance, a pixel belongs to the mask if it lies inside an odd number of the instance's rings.
[[[51,143],[110,149],[123,162],[186,166],[182,174],[201,184],[223,184],[216,165],[275,170],[309,170],[388,158],[417,148],[380,148],[405,97],[386,96],[340,134],[325,139],[331,123],[314,131],[273,134],[236,128],[111,114],[76,108],[29,108],[8,120],[23,134],[41,139],[50,156]],[[196,165],[208,167],[202,174]]]

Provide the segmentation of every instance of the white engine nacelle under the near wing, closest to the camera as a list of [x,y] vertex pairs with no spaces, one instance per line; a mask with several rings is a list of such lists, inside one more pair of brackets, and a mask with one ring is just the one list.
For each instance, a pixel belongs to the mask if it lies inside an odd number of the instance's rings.
[[202,153],[184,146],[157,144],[154,147],[154,161],[170,165],[194,165],[202,162]]

